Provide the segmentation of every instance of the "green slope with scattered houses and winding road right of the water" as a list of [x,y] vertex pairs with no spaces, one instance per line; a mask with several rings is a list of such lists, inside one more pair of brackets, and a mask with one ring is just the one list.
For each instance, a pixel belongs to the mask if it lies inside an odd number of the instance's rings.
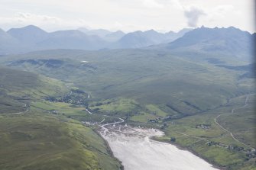
[[[222,126],[232,131],[238,139],[243,139],[242,142],[252,147],[255,146],[255,117],[252,114],[254,113],[254,95],[250,96],[247,107],[235,110],[234,114],[229,114],[233,107],[241,107],[245,104],[245,97],[243,95],[233,98],[227,106],[219,107],[204,114],[173,120],[164,129],[166,136],[160,137],[158,140],[170,143],[170,137],[175,137],[177,145],[192,150],[215,165],[228,169],[245,168],[246,165],[248,168],[245,169],[253,169],[256,165],[251,161],[253,159],[248,160],[245,152],[238,152],[218,145],[207,145],[207,142],[212,141],[226,146],[240,146],[250,149],[233,140],[229,133],[216,125],[214,118],[219,114],[224,114],[223,117],[220,117]],[[196,128],[197,124],[209,124],[209,129]]]

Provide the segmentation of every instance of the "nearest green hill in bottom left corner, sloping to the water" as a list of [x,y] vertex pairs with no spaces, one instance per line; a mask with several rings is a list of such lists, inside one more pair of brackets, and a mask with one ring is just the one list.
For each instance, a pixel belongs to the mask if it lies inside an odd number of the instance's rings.
[[102,138],[78,121],[31,111],[1,117],[0,127],[1,169],[120,167]]

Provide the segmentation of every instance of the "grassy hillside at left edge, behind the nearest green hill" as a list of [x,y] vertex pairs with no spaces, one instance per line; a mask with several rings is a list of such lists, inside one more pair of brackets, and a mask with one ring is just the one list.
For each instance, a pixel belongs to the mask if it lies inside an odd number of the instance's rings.
[[62,82],[31,72],[0,68],[0,114],[24,111],[24,104],[66,91]]

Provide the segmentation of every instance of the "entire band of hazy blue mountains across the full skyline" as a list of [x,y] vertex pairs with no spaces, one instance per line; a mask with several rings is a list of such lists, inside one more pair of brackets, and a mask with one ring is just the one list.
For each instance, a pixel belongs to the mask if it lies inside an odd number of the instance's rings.
[[194,53],[215,51],[225,56],[238,56],[241,59],[253,57],[256,34],[235,27],[183,29],[165,34],[156,30],[134,31],[125,34],[121,30],[58,30],[48,33],[39,27],[29,25],[0,30],[0,54],[26,53],[35,50],[73,49],[106,50],[143,48],[151,50],[171,50],[184,56]]

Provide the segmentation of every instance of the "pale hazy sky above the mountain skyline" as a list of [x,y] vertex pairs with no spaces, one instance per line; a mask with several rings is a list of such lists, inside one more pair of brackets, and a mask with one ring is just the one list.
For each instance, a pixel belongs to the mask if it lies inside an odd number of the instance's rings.
[[254,0],[0,0],[0,27],[44,30],[180,30],[229,27],[255,32]]

